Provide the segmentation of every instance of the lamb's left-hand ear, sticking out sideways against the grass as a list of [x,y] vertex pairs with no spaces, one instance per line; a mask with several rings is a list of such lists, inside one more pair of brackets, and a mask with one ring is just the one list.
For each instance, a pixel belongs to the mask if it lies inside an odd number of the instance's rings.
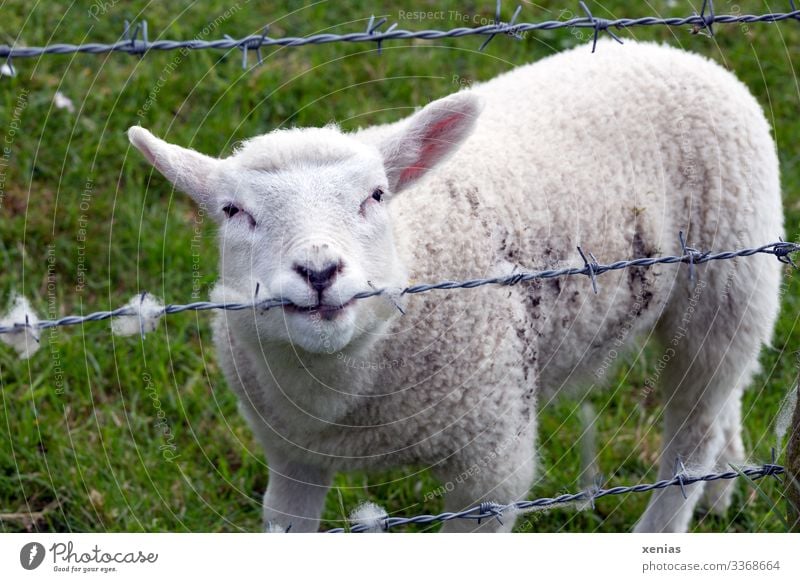
[[128,130],[128,139],[178,190],[198,203],[208,202],[213,193],[209,175],[220,160],[167,143],[139,126]]

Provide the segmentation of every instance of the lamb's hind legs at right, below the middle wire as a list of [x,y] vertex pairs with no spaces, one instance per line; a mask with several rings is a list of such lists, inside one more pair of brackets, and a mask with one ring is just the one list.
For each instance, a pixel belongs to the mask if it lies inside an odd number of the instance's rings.
[[[696,286],[687,286],[689,298],[679,293],[659,325],[666,362],[659,479],[683,471],[676,467],[678,461],[696,474],[726,469],[744,456],[741,394],[758,369],[759,350],[774,320],[770,301],[775,299],[770,289],[774,273],[759,270],[757,262],[748,265],[705,266],[705,278],[698,272]],[[636,531],[686,531],[706,487],[686,486],[686,499],[678,486],[654,492]],[[717,485],[706,499],[722,510],[731,487]]]

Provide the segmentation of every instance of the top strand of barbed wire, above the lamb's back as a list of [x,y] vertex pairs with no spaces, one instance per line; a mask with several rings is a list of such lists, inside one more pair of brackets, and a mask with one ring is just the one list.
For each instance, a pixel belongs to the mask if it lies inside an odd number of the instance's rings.
[[266,27],[261,34],[251,34],[242,38],[232,38],[225,35],[224,38],[216,40],[201,40],[198,38],[189,40],[155,40],[148,38],[147,21],[141,21],[136,25],[125,21],[124,32],[121,39],[113,43],[90,42],[85,44],[65,44],[56,43],[47,46],[21,47],[0,45],[0,58],[11,61],[13,58],[31,58],[47,54],[73,54],[73,53],[127,53],[132,55],[143,55],[148,51],[170,51],[178,49],[188,50],[229,50],[239,49],[242,51],[242,66],[247,68],[248,51],[255,51],[258,57],[258,64],[263,62],[261,49],[271,46],[298,47],[305,45],[318,45],[330,43],[375,43],[378,52],[381,50],[382,43],[391,40],[439,40],[446,38],[461,38],[465,36],[485,36],[486,39],[480,45],[479,50],[483,50],[492,39],[497,35],[506,35],[519,39],[525,32],[556,29],[591,29],[593,31],[592,52],[595,51],[597,40],[602,33],[607,33],[617,42],[622,40],[611,30],[624,30],[634,27],[668,26],[674,28],[691,27],[694,34],[707,32],[714,35],[715,24],[755,24],[755,23],[778,23],[787,20],[800,22],[800,10],[797,9],[794,0],[789,0],[789,12],[772,12],[763,14],[716,14],[712,0],[704,0],[699,13],[682,17],[654,17],[644,16],[640,18],[598,18],[592,14],[583,1],[579,3],[580,10],[585,16],[570,18],[568,20],[545,20],[540,22],[516,22],[522,7],[517,6],[512,18],[504,22],[501,18],[501,2],[497,1],[494,23],[475,27],[457,27],[448,30],[405,30],[398,28],[397,23],[391,24],[386,30],[380,28],[388,22],[385,17],[376,19],[372,16],[369,19],[364,31],[350,32],[346,34],[323,33],[309,36],[269,36],[269,28]]

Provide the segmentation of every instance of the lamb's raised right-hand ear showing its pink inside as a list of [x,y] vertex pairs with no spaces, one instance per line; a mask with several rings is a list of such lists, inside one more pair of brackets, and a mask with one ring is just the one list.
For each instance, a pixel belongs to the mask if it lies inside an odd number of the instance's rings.
[[389,189],[400,192],[455,152],[472,132],[480,101],[461,92],[434,101],[412,115],[379,146]]

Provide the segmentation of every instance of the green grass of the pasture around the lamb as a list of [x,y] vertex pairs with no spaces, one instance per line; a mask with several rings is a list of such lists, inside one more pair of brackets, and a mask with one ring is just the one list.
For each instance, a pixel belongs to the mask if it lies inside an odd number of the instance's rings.
[[[111,42],[123,20],[142,17],[150,23],[151,39],[191,38],[204,27],[206,38],[239,36],[265,23],[272,35],[346,32],[363,29],[371,12],[400,19],[405,28],[451,28],[472,25],[476,15],[491,18],[494,3],[299,4],[13,0],[2,3],[0,43]],[[513,7],[506,4],[508,18]],[[604,0],[590,6],[602,17],[691,11],[688,2],[649,4]],[[788,3],[715,2],[720,13],[736,11],[734,4],[744,12],[771,12]],[[577,10],[577,2],[541,0],[525,4],[520,18],[571,17],[561,12],[563,6]],[[400,11],[411,10],[442,11],[444,18],[402,19]],[[787,234],[796,239],[800,117],[790,47],[798,46],[800,26],[719,26],[713,39],[664,28],[623,36],[661,39],[710,55],[749,85],[775,128]],[[380,57],[365,45],[268,50],[265,65],[248,72],[236,50],[153,53],[141,60],[18,60],[18,76],[0,78],[0,133],[11,155],[9,164],[0,164],[0,305],[17,291],[55,317],[115,307],[140,290],[171,302],[207,296],[215,277],[213,229],[131,153],[123,134],[131,125],[225,154],[237,140],[280,126],[335,119],[351,128],[396,119],[410,106],[581,39],[569,31],[520,41],[497,38],[484,53],[476,50],[480,42],[392,42]],[[56,91],[72,99],[74,113],[54,107]],[[792,348],[800,345],[800,278],[787,274],[786,281],[774,348],[763,354],[765,371],[745,401],[746,446],[758,461],[769,457],[774,417],[797,374]],[[0,520],[0,531],[257,531],[267,470],[209,349],[208,323],[203,314],[171,317],[144,342],[112,337],[106,324],[66,328],[44,335],[42,350],[28,361],[0,347],[0,513],[41,512],[32,522]],[[604,410],[599,464],[610,483],[655,479],[658,442],[656,431],[648,429],[659,408],[639,397],[655,357],[646,352],[626,361],[610,390],[593,397]],[[578,406],[565,400],[541,412],[542,469],[532,496],[580,488]],[[177,457],[166,460],[164,450]],[[762,486],[778,498],[775,482]],[[324,526],[341,525],[338,520],[367,498],[392,514],[438,511],[441,499],[423,503],[437,487],[425,472],[339,476]],[[521,520],[519,529],[626,531],[646,501],[629,495],[600,500],[595,510],[537,513]],[[695,525],[697,531],[781,527],[769,504],[744,483],[727,516],[700,518]]]

